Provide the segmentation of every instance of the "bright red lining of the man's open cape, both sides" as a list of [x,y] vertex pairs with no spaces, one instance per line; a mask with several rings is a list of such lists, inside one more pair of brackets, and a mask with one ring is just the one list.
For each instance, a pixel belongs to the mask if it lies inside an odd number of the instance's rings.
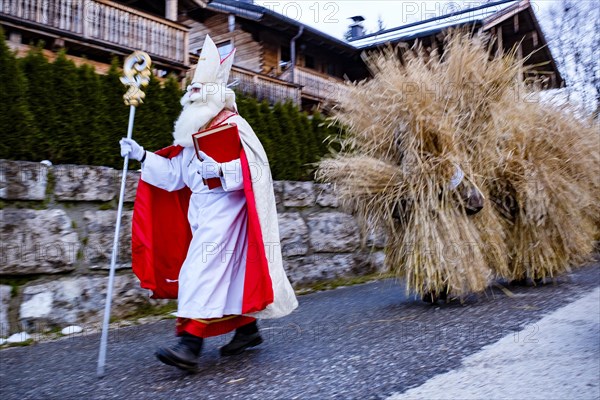
[[[183,147],[170,146],[156,154],[172,158]],[[269,265],[256,211],[252,178],[246,153],[240,154],[248,211],[248,254],[242,314],[261,311],[273,302]],[[192,239],[187,219],[191,191],[185,187],[167,192],[139,181],[132,224],[132,268],[141,286],[156,299],[176,299],[179,270]]]

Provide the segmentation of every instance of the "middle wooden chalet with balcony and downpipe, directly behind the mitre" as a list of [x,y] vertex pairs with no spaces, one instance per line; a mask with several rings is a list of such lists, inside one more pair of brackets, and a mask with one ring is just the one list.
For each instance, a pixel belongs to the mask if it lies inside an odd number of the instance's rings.
[[207,34],[224,54],[236,47],[231,78],[259,99],[310,108],[335,98],[345,79],[368,76],[351,44],[251,1],[214,0],[181,22],[190,27],[193,54]]

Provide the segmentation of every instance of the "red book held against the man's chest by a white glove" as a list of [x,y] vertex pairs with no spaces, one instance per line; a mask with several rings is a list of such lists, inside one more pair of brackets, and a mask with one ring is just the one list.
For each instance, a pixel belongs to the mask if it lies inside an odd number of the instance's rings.
[[[216,162],[224,163],[240,158],[242,142],[236,124],[223,124],[198,131],[192,135],[196,156],[202,160],[199,151],[205,152]],[[210,178],[204,181],[209,189],[221,186],[221,179]]]

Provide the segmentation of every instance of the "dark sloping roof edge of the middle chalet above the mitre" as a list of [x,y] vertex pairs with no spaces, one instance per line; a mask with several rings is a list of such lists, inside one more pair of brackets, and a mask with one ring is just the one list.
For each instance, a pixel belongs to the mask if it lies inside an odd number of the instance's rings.
[[234,14],[236,17],[260,22],[262,26],[295,36],[303,27],[302,40],[313,42],[321,47],[330,48],[349,56],[356,54],[356,47],[348,42],[330,36],[295,19],[288,18],[266,7],[236,0],[213,0],[206,9],[221,13]]

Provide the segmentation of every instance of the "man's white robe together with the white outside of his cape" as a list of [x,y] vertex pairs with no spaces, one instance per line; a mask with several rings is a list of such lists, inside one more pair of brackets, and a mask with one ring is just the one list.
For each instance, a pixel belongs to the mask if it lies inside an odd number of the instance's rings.
[[[238,125],[252,174],[252,187],[261,225],[274,301],[257,318],[278,318],[297,306],[281,257],[279,226],[271,171],[256,134],[240,116]],[[147,152],[142,180],[167,191],[188,186],[192,195],[188,221],[192,241],[179,273],[177,316],[218,318],[242,313],[246,253],[247,208],[240,160],[222,165],[222,187],[209,190],[194,167],[195,151],[185,147],[172,159]]]

